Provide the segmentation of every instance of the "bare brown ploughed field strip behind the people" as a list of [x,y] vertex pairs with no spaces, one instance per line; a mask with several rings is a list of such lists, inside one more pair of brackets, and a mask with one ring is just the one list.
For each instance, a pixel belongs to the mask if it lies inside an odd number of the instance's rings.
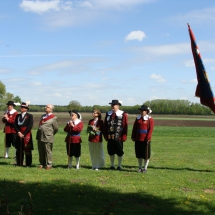
[[[31,113],[29,111],[29,113]],[[3,116],[3,112],[0,112]],[[34,116],[34,128],[37,128],[39,120],[43,112],[32,112]],[[67,121],[70,119],[69,113],[54,113],[58,118],[59,126],[66,125]],[[91,113],[81,113],[82,120],[85,124],[88,123],[89,119],[92,118]],[[138,114],[129,114],[128,122],[129,125],[134,123],[134,120]],[[102,114],[104,119],[105,113]],[[187,126],[187,127],[215,127],[215,117],[211,116],[190,116],[190,115],[153,115],[152,117],[155,122],[155,126]],[[0,123],[0,129],[3,129],[4,124]]]

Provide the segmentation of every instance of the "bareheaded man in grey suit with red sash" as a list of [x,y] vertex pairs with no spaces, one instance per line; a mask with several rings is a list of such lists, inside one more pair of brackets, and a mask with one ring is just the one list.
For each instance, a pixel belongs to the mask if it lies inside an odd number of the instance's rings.
[[54,135],[58,131],[57,117],[52,113],[54,106],[46,105],[46,114],[41,116],[39,128],[37,130],[37,143],[39,152],[39,168],[45,167],[46,170],[52,168],[52,147]]

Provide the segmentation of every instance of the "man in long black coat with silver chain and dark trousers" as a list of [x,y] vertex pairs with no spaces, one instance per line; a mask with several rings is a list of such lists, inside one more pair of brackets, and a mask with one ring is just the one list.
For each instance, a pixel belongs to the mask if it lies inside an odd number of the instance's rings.
[[33,127],[33,115],[27,113],[29,109],[28,103],[22,102],[21,113],[16,116],[15,130],[17,132],[16,138],[16,161],[17,166],[23,166],[23,159],[25,154],[26,167],[31,167],[33,140],[31,129]]

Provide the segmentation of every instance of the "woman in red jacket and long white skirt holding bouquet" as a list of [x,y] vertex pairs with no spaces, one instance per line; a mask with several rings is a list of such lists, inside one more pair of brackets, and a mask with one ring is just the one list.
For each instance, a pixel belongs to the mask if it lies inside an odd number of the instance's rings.
[[92,169],[95,170],[103,167],[105,163],[102,143],[103,120],[101,118],[101,112],[94,110],[93,119],[89,120],[87,128]]

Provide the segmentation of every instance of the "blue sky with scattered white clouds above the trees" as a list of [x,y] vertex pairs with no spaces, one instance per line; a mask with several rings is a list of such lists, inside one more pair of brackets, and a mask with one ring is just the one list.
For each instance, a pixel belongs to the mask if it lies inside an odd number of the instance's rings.
[[187,23],[214,91],[214,0],[1,1],[0,80],[31,104],[199,102]]

